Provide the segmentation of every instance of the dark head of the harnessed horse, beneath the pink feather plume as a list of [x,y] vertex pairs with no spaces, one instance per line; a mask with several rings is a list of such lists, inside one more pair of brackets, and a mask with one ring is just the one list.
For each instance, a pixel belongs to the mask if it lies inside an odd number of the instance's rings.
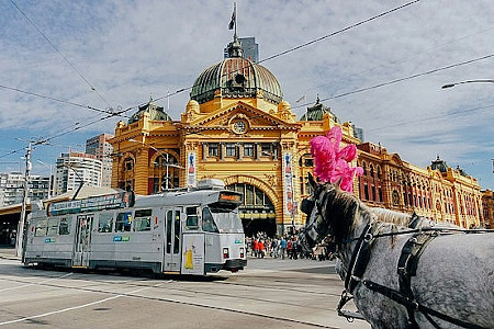
[[338,245],[349,234],[359,207],[358,198],[341,191],[338,183],[317,183],[310,174],[313,193],[302,201],[301,211],[307,215],[300,240],[306,249],[321,242],[326,236]]

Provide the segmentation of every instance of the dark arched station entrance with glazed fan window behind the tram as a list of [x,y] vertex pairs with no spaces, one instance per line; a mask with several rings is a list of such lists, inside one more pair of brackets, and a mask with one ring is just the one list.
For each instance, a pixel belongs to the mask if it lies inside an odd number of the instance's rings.
[[226,189],[244,194],[244,204],[238,211],[246,237],[255,236],[259,231],[266,232],[268,237],[276,236],[274,206],[261,189],[246,183],[231,184]]

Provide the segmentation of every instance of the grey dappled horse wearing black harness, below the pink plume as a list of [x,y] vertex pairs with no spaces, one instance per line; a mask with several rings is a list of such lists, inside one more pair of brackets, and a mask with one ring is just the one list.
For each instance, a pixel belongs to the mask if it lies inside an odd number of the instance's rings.
[[494,328],[493,234],[433,229],[424,218],[411,229],[409,215],[373,211],[333,184],[310,181],[301,242],[333,239],[344,293],[372,328]]

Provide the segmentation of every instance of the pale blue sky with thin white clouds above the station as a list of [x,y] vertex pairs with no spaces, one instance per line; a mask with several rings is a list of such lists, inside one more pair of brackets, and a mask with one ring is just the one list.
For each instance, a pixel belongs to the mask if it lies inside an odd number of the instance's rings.
[[[153,95],[173,120],[232,42],[233,1],[0,1],[0,172],[48,174]],[[366,141],[494,190],[492,0],[238,0],[237,33],[300,117],[317,97]],[[395,10],[393,10],[395,9]],[[167,95],[169,95],[167,98]],[[302,99],[302,100],[300,100]],[[299,102],[297,102],[299,100]],[[128,110],[126,116],[104,112]]]

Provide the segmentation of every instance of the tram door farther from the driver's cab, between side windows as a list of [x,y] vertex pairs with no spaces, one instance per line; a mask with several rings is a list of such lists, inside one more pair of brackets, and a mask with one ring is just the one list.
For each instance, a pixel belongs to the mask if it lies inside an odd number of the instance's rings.
[[92,215],[77,216],[76,243],[74,247],[72,266],[89,265],[91,248]]

